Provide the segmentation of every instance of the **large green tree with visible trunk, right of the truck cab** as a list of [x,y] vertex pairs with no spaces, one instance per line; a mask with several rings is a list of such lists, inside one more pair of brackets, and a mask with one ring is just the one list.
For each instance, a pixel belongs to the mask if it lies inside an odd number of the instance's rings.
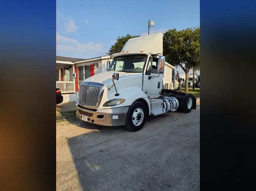
[[166,62],[183,69],[186,75],[185,92],[188,92],[188,73],[190,69],[200,67],[200,28],[166,31],[163,34],[163,55]]

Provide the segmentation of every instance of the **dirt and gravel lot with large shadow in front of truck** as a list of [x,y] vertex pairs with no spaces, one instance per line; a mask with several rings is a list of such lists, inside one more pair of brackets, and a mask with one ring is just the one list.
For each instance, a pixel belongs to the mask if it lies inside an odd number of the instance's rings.
[[58,122],[57,190],[198,191],[199,123],[199,105],[152,117],[138,132]]

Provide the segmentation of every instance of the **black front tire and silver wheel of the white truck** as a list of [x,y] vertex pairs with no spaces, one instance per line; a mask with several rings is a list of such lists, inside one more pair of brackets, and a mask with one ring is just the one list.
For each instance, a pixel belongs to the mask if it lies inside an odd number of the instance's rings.
[[134,102],[128,109],[126,116],[126,129],[128,131],[139,131],[146,123],[148,109],[141,102]]

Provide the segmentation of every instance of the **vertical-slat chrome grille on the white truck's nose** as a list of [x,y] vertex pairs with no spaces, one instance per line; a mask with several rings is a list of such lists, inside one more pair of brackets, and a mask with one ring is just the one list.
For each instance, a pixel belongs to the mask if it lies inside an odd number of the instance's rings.
[[102,88],[98,86],[87,86],[81,84],[79,87],[79,104],[95,108],[101,101]]

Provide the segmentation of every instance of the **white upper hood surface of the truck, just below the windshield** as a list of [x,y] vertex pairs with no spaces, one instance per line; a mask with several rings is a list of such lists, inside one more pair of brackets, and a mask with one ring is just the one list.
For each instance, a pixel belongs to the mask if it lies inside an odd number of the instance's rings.
[[99,74],[95,74],[89,78],[87,78],[86,82],[97,82],[103,83],[105,86],[113,85],[112,75],[113,73],[119,74],[119,80],[115,80],[115,84],[127,82],[130,80],[142,80],[142,73],[128,73],[128,72],[118,72],[118,71],[110,71],[110,72],[102,72]]

